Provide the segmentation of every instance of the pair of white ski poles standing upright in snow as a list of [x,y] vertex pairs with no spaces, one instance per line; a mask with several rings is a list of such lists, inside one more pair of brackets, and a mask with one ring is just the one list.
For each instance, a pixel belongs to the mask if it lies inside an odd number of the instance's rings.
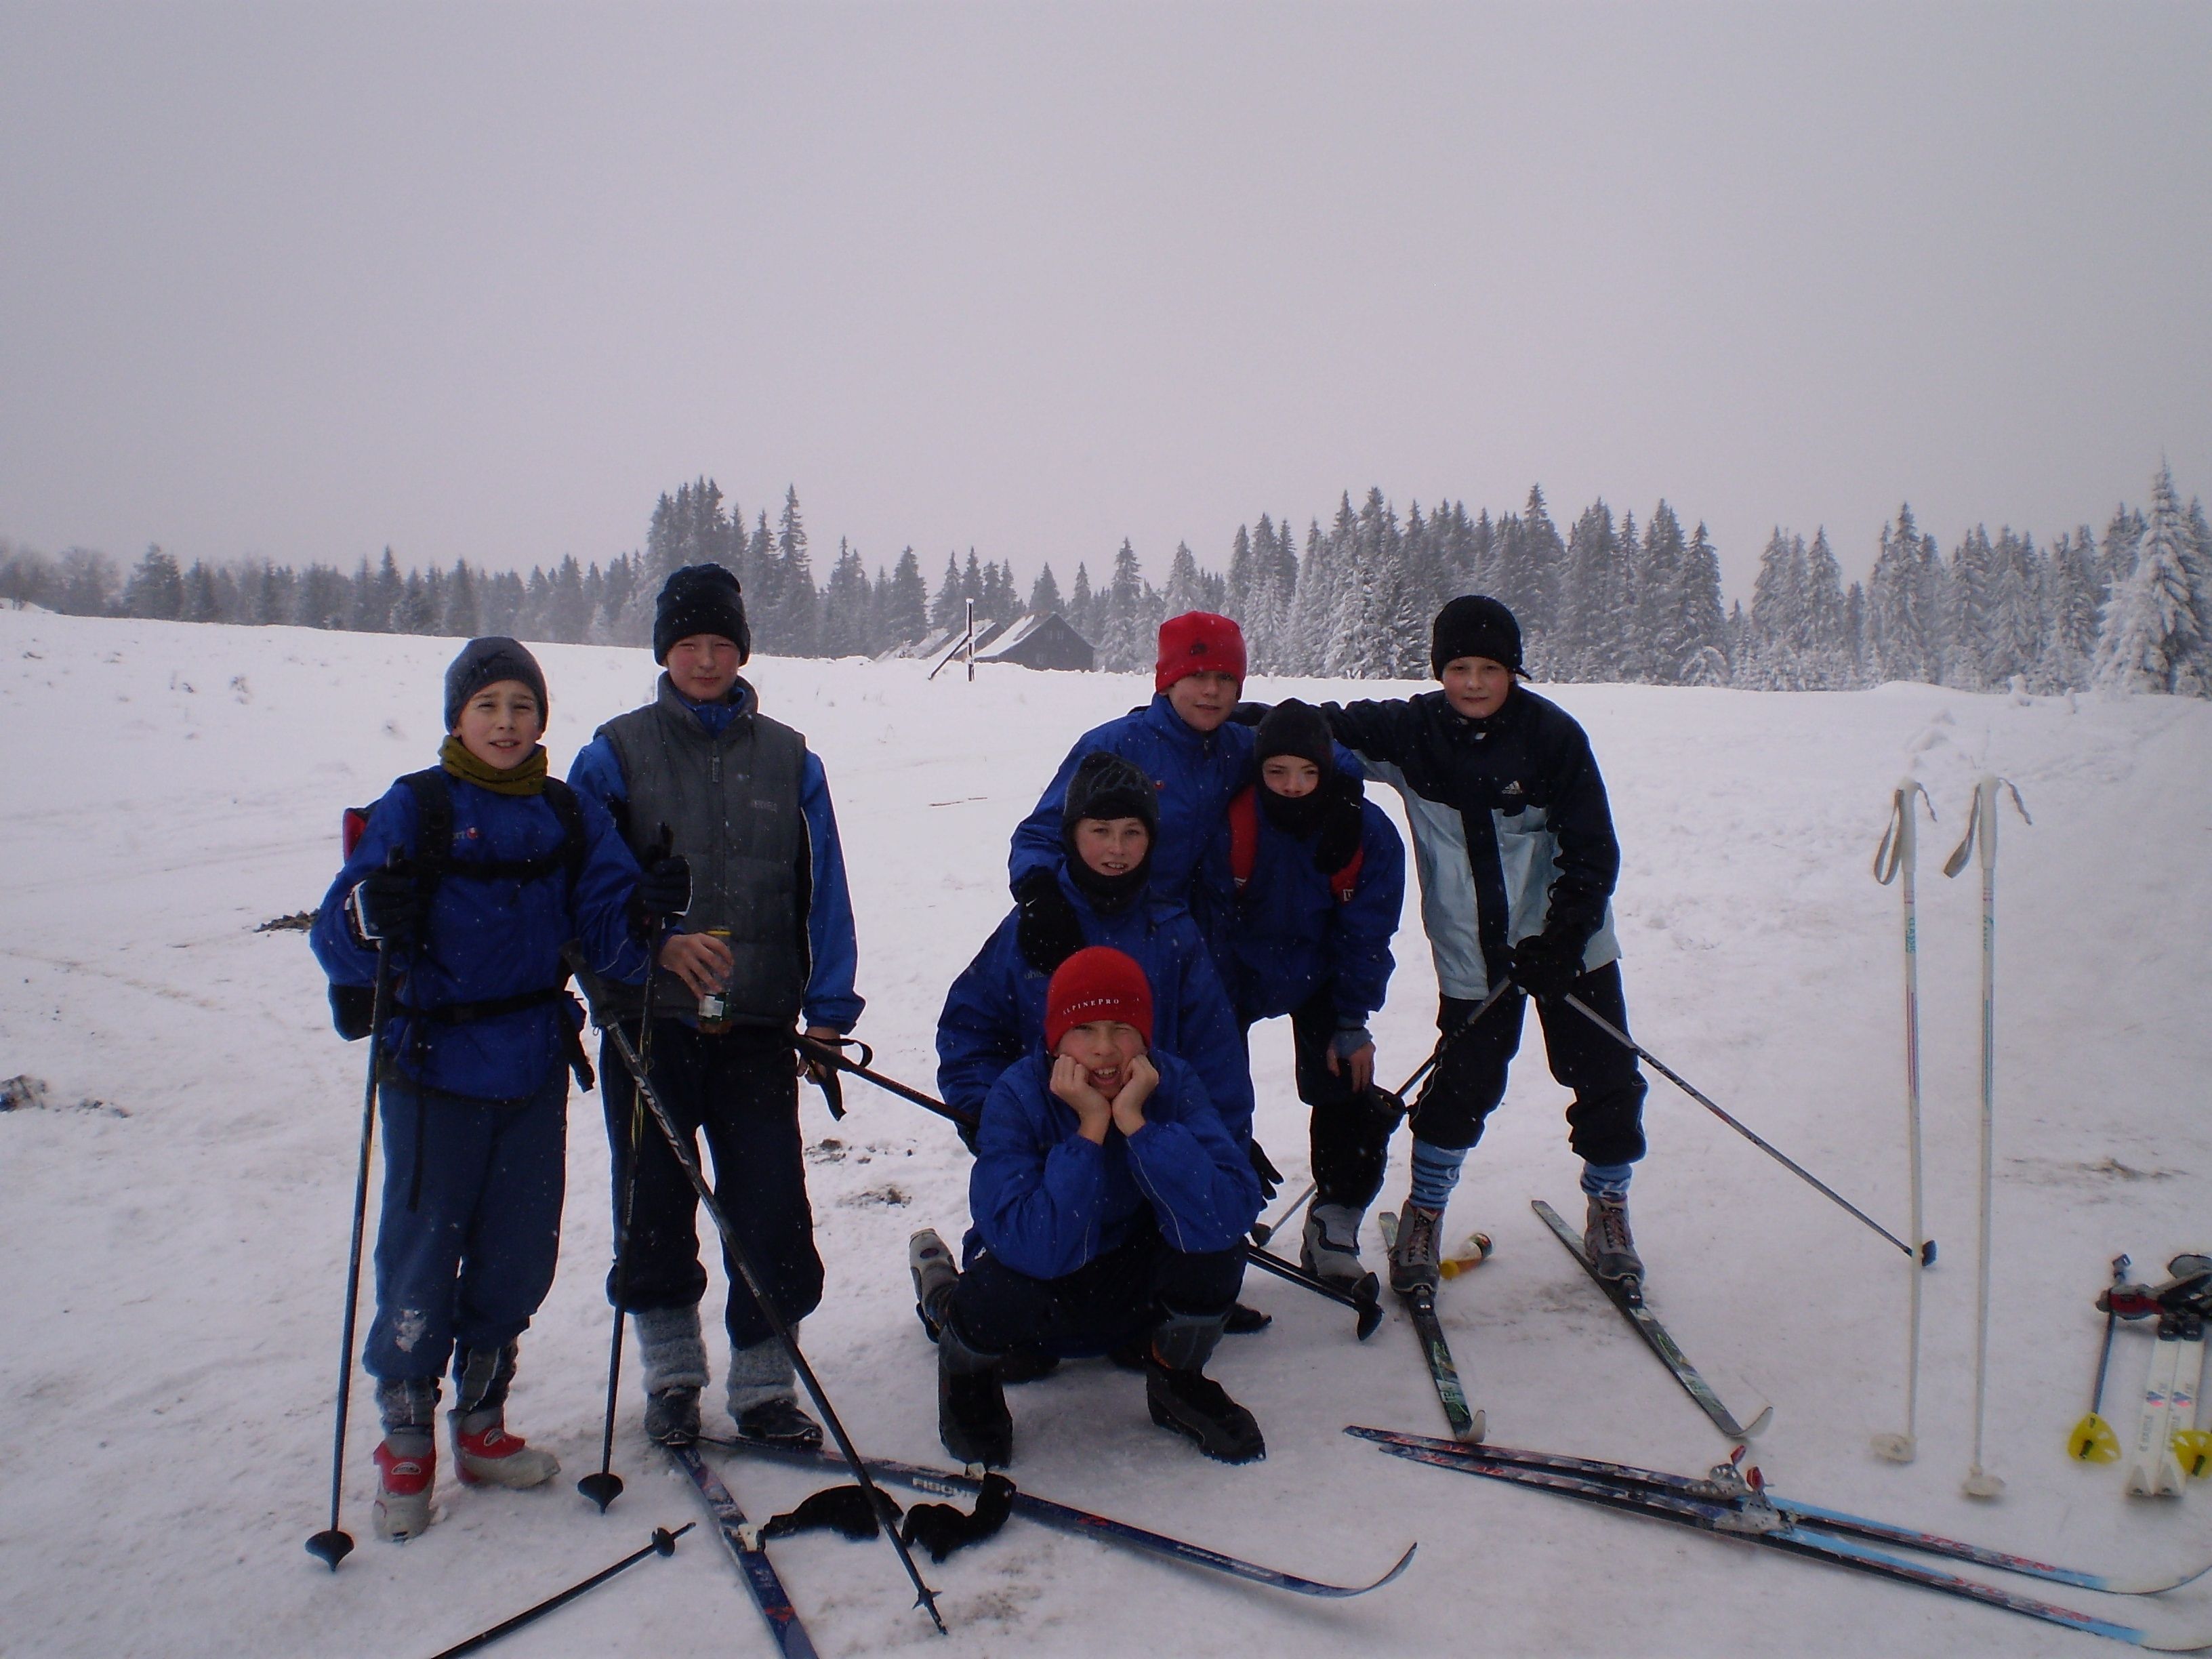
[[[2006,794],[2011,794],[2022,823],[2033,823],[2026,803],[2020,799],[2020,787],[2011,779],[1984,772],[1975,779],[1973,801],[1966,807],[1966,834],[1942,867],[1944,876],[1958,876],[1966,869],[1966,860],[1973,858],[1982,872],[1982,1161],[1975,1228],[1973,1458],[1966,1464],[1966,1480],[1960,1486],[1969,1498],[1997,1498],[2004,1491],[2004,1480],[1982,1467],[1982,1431],[1989,1407],[1991,1199],[1997,1168],[1997,805]],[[1922,805],[1927,807],[1929,823],[1933,823],[1936,803],[1920,781],[1907,776],[1898,783],[1889,803],[1889,827],[1882,832],[1882,845],[1874,854],[1874,878],[1885,887],[1891,883],[1898,885],[1905,916],[1905,1159],[1913,1239],[1924,1239],[1920,1170],[1920,925],[1916,909]],[[1891,1462],[1911,1462],[1920,1444],[1920,1270],[1933,1263],[1933,1259],[1936,1245],[1924,1243],[1907,1267],[1905,1429],[1900,1433],[1874,1436],[1874,1449]]]

